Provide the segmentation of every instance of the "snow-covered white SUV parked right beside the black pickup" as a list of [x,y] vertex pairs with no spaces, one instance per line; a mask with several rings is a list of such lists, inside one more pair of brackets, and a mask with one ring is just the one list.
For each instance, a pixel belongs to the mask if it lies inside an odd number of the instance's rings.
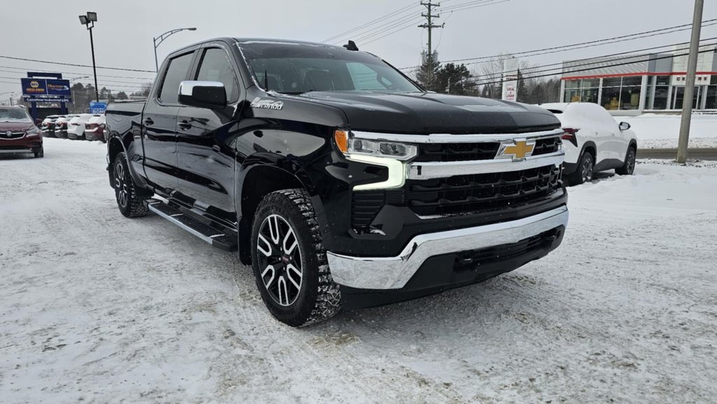
[[565,163],[563,177],[570,184],[592,181],[595,172],[614,169],[632,175],[637,158],[637,136],[630,123],[617,123],[602,106],[593,103],[551,103],[541,107],[561,121]]

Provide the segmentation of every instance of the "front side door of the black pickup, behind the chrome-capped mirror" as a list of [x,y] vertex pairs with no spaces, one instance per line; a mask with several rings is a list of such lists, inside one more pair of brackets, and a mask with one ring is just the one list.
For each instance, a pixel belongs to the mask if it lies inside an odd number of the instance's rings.
[[196,207],[234,212],[234,161],[229,147],[237,133],[239,86],[237,67],[224,44],[199,50],[199,62],[189,80],[221,82],[227,107],[221,110],[182,106],[177,116],[179,192]]

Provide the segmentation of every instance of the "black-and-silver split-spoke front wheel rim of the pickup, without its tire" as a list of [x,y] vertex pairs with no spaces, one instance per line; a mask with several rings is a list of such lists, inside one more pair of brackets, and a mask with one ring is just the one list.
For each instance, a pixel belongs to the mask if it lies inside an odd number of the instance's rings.
[[301,248],[293,227],[280,215],[270,215],[259,227],[257,263],[269,296],[280,306],[298,299],[303,281]]

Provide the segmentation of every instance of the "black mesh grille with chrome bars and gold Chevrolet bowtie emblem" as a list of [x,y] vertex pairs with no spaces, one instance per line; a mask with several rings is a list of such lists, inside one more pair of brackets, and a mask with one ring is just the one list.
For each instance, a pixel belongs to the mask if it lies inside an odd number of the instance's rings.
[[[408,207],[429,218],[508,210],[550,199],[562,187],[562,133],[356,133],[361,138],[417,144],[419,154],[404,166],[402,187],[354,191],[353,228],[369,228],[385,205]],[[529,146],[533,149],[526,152]],[[518,152],[505,154],[506,147]]]

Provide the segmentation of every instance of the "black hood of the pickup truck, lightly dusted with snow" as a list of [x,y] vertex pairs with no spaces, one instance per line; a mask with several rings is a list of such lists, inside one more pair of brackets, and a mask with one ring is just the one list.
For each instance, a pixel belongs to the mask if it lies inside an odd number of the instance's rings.
[[390,133],[521,133],[560,127],[533,105],[436,93],[311,92],[299,98],[332,105],[354,131]]

